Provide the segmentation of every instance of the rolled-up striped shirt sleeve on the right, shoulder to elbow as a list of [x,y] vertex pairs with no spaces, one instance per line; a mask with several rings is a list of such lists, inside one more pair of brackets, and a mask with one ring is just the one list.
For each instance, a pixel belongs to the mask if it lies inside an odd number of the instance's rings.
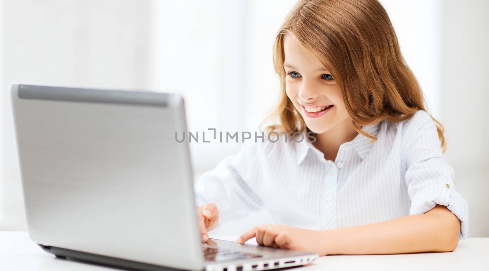
[[445,160],[435,122],[427,113],[424,114],[422,119],[414,120],[410,127],[415,131],[406,155],[405,180],[411,198],[409,214],[422,214],[437,204],[444,205],[461,222],[459,240],[466,239],[467,201],[455,190],[455,171]]

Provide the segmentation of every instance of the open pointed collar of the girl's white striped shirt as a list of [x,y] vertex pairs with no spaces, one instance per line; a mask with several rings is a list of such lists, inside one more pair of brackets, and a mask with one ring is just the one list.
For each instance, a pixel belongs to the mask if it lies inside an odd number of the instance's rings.
[[[380,129],[380,123],[377,123],[374,125],[365,125],[362,127],[362,130],[364,130],[367,133],[374,134],[374,135],[378,135],[379,129]],[[305,132],[305,134],[307,134],[307,132]],[[302,142],[296,142],[297,165],[300,165],[302,163],[302,161],[304,161],[304,159],[306,159],[306,156],[308,155],[310,150],[312,152],[315,152],[316,155],[318,155],[319,157],[321,157],[321,158],[324,157],[324,153],[322,153],[320,150],[318,150],[307,139],[308,138],[305,137]],[[352,141],[345,142],[342,145],[351,144],[354,147],[354,149],[356,150],[356,152],[358,153],[358,155],[362,158],[362,160],[365,160],[365,157],[367,156],[367,154],[369,153],[369,151],[373,145],[373,143],[372,144],[369,143],[371,140],[372,139],[358,133]]]

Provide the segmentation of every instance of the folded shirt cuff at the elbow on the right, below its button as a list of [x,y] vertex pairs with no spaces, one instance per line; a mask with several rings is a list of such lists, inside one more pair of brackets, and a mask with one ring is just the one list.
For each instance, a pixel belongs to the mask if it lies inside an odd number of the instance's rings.
[[437,204],[446,206],[458,217],[460,220],[459,240],[466,239],[468,232],[468,203],[455,191],[452,180],[445,180],[443,183],[425,187],[416,193],[411,201],[409,215],[425,213]]

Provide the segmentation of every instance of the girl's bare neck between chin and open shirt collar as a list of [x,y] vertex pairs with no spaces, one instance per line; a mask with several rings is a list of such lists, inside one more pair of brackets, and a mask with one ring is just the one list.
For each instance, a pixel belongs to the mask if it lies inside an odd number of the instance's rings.
[[357,134],[358,132],[353,127],[352,120],[348,118],[324,133],[314,134],[316,141],[312,145],[324,153],[326,160],[334,162],[339,146],[345,142],[352,141]]

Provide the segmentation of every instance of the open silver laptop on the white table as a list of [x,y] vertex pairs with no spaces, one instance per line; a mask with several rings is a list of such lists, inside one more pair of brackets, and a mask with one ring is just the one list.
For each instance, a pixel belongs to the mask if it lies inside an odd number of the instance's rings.
[[318,255],[200,241],[177,94],[11,84],[30,238],[137,270],[268,270]]

